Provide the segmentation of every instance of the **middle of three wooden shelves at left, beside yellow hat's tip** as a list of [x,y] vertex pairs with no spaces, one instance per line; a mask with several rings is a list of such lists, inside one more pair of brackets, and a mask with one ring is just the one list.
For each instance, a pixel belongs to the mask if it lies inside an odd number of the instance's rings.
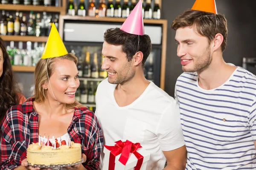
[[1,35],[4,41],[32,41],[32,42],[47,42],[48,37],[21,36],[21,35]]

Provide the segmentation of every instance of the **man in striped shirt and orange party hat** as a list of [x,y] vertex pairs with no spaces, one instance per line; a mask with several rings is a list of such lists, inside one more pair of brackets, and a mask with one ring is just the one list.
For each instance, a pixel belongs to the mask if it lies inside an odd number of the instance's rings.
[[[172,23],[183,74],[175,86],[186,170],[256,169],[256,76],[224,62],[227,20],[209,0]],[[205,10],[204,10],[205,7]]]

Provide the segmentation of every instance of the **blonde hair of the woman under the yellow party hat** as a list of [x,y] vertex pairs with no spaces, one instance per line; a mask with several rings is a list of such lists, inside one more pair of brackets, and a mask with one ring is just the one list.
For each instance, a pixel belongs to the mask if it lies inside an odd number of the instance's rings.
[[[49,78],[52,76],[54,71],[54,62],[56,59],[68,59],[77,64],[77,58],[73,54],[66,54],[61,57],[53,57],[47,59],[40,59],[35,66],[35,94],[32,96],[36,102],[43,103],[46,99],[46,90],[43,88],[43,85],[49,82],[47,77],[47,71]],[[47,70],[46,70],[47,69]],[[74,107],[84,107],[79,102],[75,101],[72,104],[65,104],[66,108],[74,108]]]

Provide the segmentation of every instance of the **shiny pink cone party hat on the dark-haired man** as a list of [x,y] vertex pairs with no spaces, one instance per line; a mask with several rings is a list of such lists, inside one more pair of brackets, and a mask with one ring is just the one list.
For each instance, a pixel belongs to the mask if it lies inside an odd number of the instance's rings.
[[142,0],[139,0],[137,5],[131,11],[131,14],[122,24],[122,31],[135,35],[144,35],[144,23],[142,16]]

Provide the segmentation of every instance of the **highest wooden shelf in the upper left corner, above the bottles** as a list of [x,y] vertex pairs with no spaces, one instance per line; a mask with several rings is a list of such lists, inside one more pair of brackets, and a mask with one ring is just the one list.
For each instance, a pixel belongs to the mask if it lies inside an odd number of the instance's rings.
[[2,10],[19,10],[19,11],[47,11],[47,12],[60,12],[65,13],[63,7],[55,6],[33,6],[33,5],[13,5],[13,4],[0,4],[0,9]]

